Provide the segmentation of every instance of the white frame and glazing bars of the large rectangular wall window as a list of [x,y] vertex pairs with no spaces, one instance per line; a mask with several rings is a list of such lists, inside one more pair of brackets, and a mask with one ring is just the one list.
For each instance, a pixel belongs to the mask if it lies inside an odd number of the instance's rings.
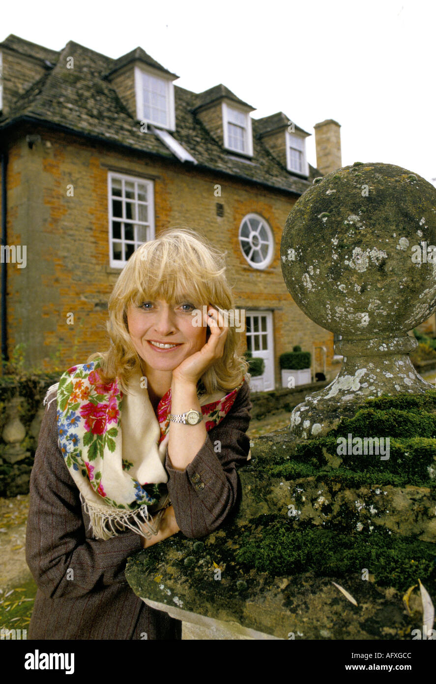
[[[134,183],[142,183],[143,185],[147,185],[147,205],[148,205],[148,222],[143,222],[139,220],[133,220],[133,219],[126,219],[126,218],[119,218],[118,216],[113,216],[112,214],[112,199],[119,200],[120,198],[118,197],[113,197],[112,196],[112,179],[120,179],[122,181],[122,188],[124,189],[124,184],[126,181],[129,182],[134,182]],[[135,195],[137,195],[137,188],[135,186]],[[124,198],[124,192],[122,192],[122,200]],[[124,268],[126,265],[127,261],[126,259],[113,259],[113,250],[112,246],[114,242],[121,242],[122,243],[122,253],[124,255],[124,245],[126,242],[128,244],[134,244],[135,249],[133,250],[134,252],[137,250],[137,248],[141,245],[144,244],[143,241],[138,241],[138,240],[126,240],[125,237],[123,237],[123,231],[122,231],[122,237],[121,239],[119,238],[114,238],[113,237],[113,232],[112,232],[112,221],[118,221],[120,223],[124,224],[137,224],[137,225],[142,225],[142,226],[148,226],[149,227],[149,239],[154,240],[155,236],[155,226],[154,226],[154,183],[153,181],[150,181],[149,179],[144,179],[144,178],[139,178],[137,176],[127,176],[126,174],[121,174],[121,173],[116,173],[113,171],[109,171],[107,173],[107,201],[108,201],[108,213],[109,213],[109,265],[112,268]],[[137,205],[138,200],[135,200],[135,204]],[[125,213],[125,200],[123,200],[123,215]],[[124,233],[125,235],[125,233]]]

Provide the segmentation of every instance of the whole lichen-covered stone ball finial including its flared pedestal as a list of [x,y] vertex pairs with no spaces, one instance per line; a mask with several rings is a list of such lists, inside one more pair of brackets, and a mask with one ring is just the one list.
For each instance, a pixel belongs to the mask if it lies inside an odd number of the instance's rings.
[[323,434],[334,410],[345,415],[350,403],[367,396],[430,387],[410,363],[417,343],[407,332],[436,306],[431,183],[384,163],[355,163],[316,179],[288,215],[281,257],[292,298],[318,325],[342,336],[336,351],[344,355],[338,378],[312,395],[316,410],[330,400],[329,419],[321,419],[326,410],[316,417],[306,398],[305,420],[299,407],[292,413],[295,432]]

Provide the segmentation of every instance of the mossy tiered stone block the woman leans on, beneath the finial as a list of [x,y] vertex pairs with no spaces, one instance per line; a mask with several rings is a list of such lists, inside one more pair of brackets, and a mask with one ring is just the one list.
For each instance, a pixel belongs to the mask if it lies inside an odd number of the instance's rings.
[[[338,455],[336,436],[376,429],[389,459]],[[435,434],[433,390],[370,399],[325,437],[256,438],[237,514],[135,555],[128,583],[201,638],[411,640],[418,581],[436,596]]]

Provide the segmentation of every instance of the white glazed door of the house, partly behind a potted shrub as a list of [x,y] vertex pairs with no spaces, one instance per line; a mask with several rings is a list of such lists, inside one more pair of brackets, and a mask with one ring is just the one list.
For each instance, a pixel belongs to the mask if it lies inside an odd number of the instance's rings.
[[273,313],[271,311],[246,311],[247,349],[254,358],[263,358],[264,391],[275,389]]

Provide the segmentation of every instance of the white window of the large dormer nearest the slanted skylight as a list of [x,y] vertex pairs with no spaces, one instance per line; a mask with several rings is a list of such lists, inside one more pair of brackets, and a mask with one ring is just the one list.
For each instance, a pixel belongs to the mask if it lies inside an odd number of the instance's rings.
[[135,66],[135,90],[137,118],[174,131],[176,125],[172,80]]

